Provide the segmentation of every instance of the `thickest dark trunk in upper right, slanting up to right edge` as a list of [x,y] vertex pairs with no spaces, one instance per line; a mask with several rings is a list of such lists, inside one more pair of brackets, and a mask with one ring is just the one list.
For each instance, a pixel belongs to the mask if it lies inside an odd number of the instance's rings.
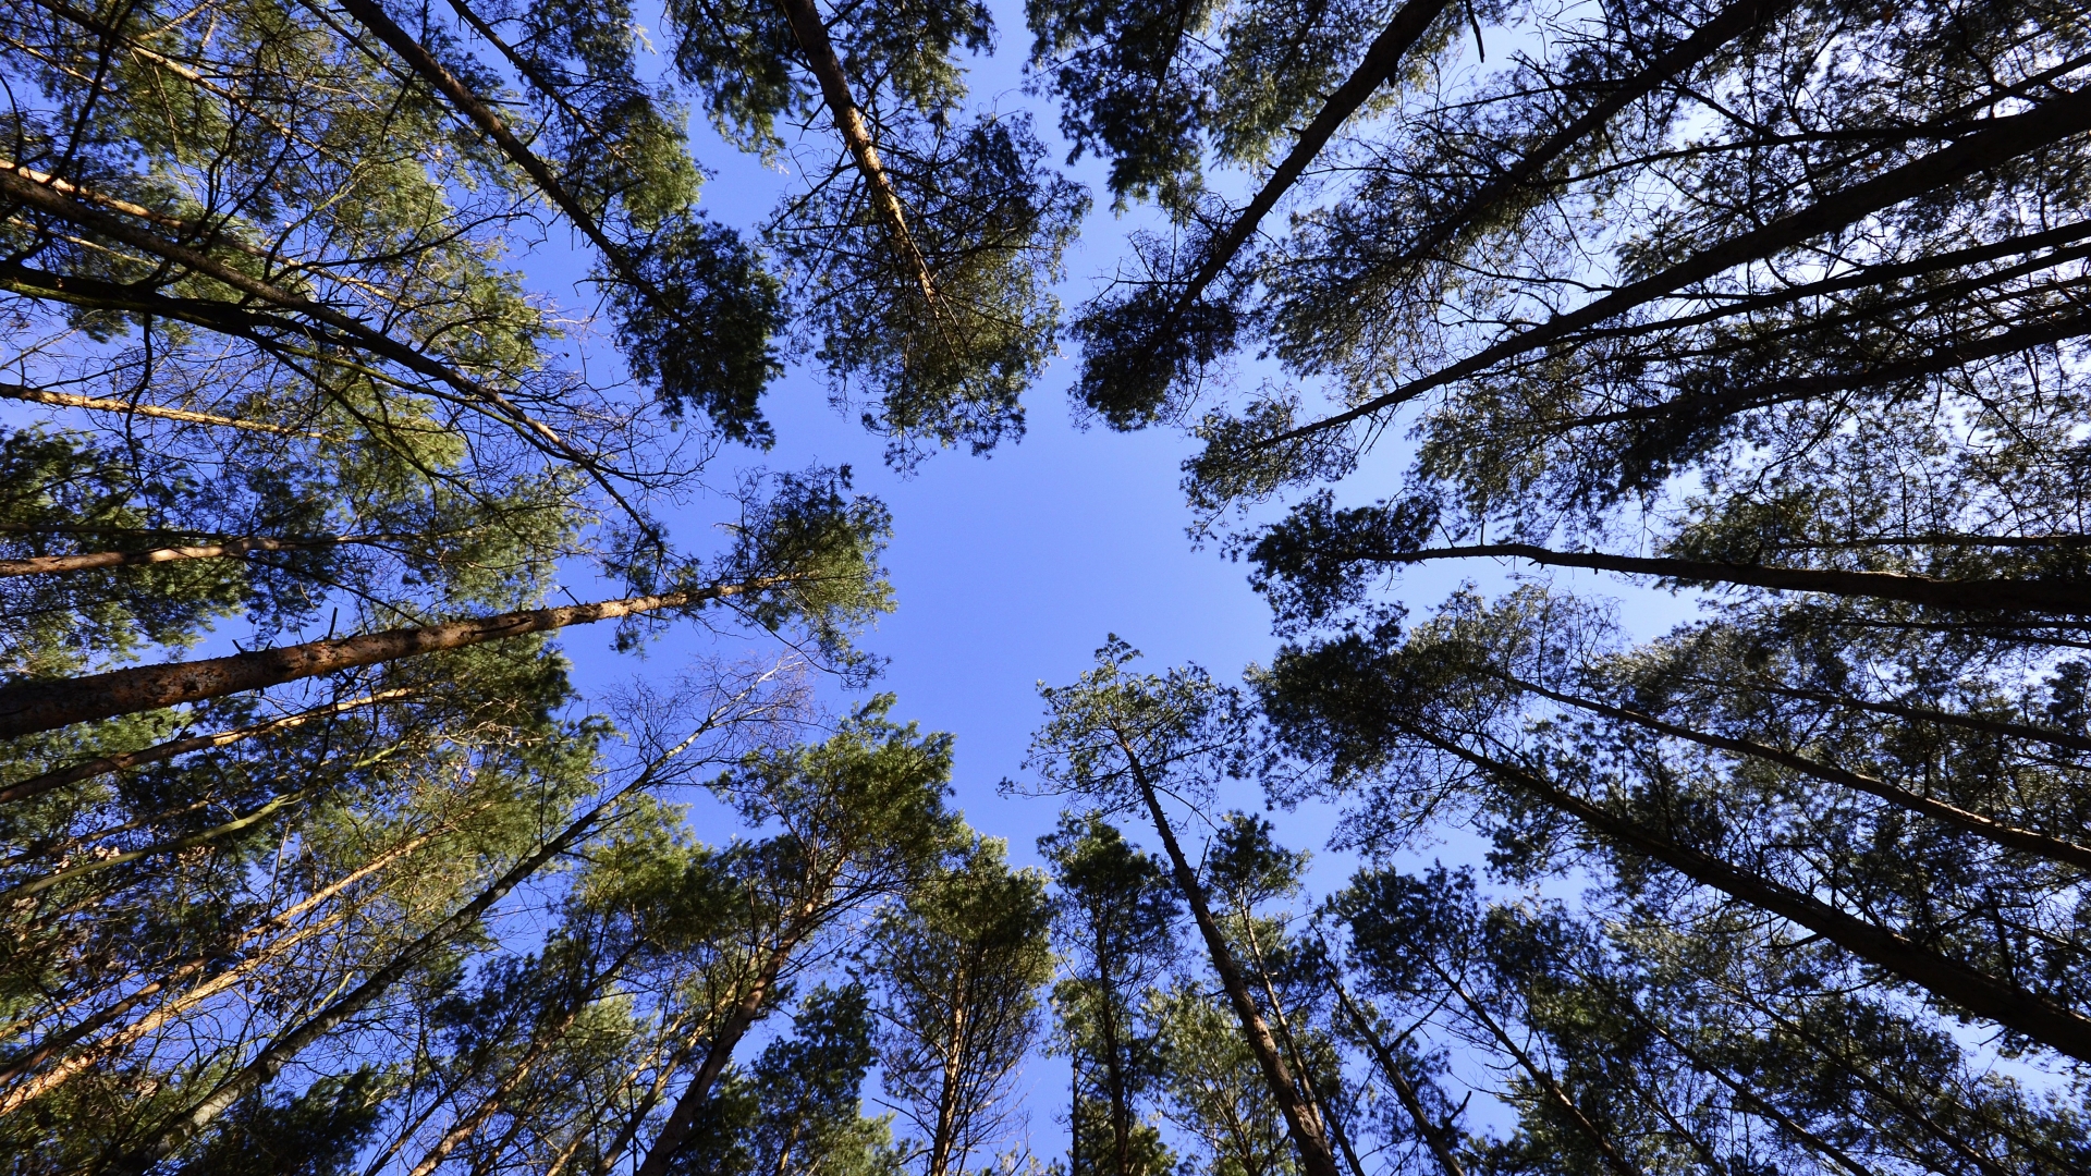
[[1288,429],[1259,444],[1278,446],[1309,433],[1334,429],[1338,425],[1349,425],[1351,421],[1384,412],[1386,408],[1416,400],[1426,391],[1480,375],[1512,356],[1545,347],[1564,335],[1585,326],[1595,326],[1639,306],[1648,306],[1731,266],[1792,249],[1876,211],[1966,180],[1968,176],[2020,155],[2053,146],[2091,130],[2091,90],[2068,92],[2041,103],[2028,113],[1982,119],[1978,126],[1982,130],[1966,134],[1930,155],[1911,159],[1867,180],[1859,180],[1857,184],[1832,193],[1813,205],[1790,211],[1761,228],[1752,228],[1700,249],[1690,259],[1679,262],[1669,270],[1627,282],[1612,293],[1581,306],[1579,310],[1556,314],[1537,326],[1518,331],[1491,347],[1483,347],[1464,360],[1443,366],[1426,377],[1407,381],[1393,391],[1374,395],[1353,408],[1332,412],[1330,416],[1322,416],[1319,421],[1311,421],[1296,429]]

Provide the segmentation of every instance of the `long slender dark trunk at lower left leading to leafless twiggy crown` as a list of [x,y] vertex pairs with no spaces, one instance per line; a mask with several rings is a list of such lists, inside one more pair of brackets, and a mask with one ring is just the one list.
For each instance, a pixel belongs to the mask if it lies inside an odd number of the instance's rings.
[[[644,781],[646,776],[642,776]],[[295,1030],[280,1034],[268,1046],[261,1048],[245,1067],[217,1084],[215,1090],[203,1096],[194,1107],[182,1111],[171,1122],[153,1132],[144,1143],[140,1143],[132,1153],[115,1163],[117,1172],[142,1174],[151,1170],[161,1159],[174,1155],[192,1134],[211,1124],[217,1115],[238,1103],[247,1092],[261,1088],[266,1082],[276,1078],[284,1065],[291,1063],[309,1044],[318,1042],[343,1021],[364,1011],[378,996],[385,996],[393,983],[399,983],[408,973],[412,973],[424,958],[435,954],[443,944],[452,942],[456,935],[479,923],[479,919],[500,902],[510,889],[521,885],[525,879],[544,868],[546,862],[567,852],[575,841],[585,837],[596,829],[602,818],[629,793],[640,787],[638,783],[627,789],[619,789],[617,795],[604,799],[596,808],[588,810],[579,820],[571,822],[556,837],[546,841],[535,854],[529,854],[521,862],[508,868],[493,885],[479,891],[477,898],[460,906],[456,912],[439,921],[435,927],[424,931],[412,944],[408,944],[393,960],[374,973],[370,973],[364,983],[355,986],[345,996],[339,996],[320,1013],[307,1017]]]

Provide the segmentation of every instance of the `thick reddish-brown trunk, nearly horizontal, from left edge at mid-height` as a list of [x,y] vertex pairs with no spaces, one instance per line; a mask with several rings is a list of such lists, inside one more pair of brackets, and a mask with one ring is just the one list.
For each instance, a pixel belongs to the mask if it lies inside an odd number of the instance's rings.
[[703,601],[736,596],[769,584],[774,584],[774,580],[755,584],[719,584],[713,588],[665,592],[659,596],[627,596],[623,601],[602,601],[596,605],[523,609],[466,621],[307,640],[303,644],[259,649],[253,653],[234,653],[230,657],[209,657],[203,661],[165,661],[159,665],[136,665],[130,670],[88,674],[84,678],[0,686],[0,739],[52,730],[98,718],[197,703],[243,691],[259,691],[263,686],[318,678],[320,674],[335,674],[358,665],[378,665],[399,657],[414,657],[418,653],[464,649],[489,640],[552,632],[567,626],[629,617],[657,609],[684,609]]

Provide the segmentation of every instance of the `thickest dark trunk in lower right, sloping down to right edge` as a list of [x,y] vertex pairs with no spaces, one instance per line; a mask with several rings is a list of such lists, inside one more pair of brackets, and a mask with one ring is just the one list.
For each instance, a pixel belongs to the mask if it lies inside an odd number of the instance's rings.
[[2091,1019],[2085,1019],[2074,1009],[2055,1004],[2037,992],[2026,992],[2016,983],[1976,971],[1928,948],[1920,948],[1886,927],[1851,917],[1784,883],[1740,870],[1700,850],[1677,845],[1667,837],[1658,837],[1631,820],[1614,816],[1595,804],[1510,764],[1468,751],[1466,747],[1422,728],[1405,726],[1405,730],[1447,755],[1466,760],[1529,797],[1575,816],[1589,827],[1591,833],[1598,833],[1600,837],[1650,860],[1662,862],[1698,885],[1719,889],[1721,894],[1738,898],[1759,910],[1767,910],[1805,927],[1861,960],[1897,975],[1907,983],[1938,996],[1940,1000],[1959,1004],[1976,1017],[1995,1021],[2078,1061],[2091,1061]]

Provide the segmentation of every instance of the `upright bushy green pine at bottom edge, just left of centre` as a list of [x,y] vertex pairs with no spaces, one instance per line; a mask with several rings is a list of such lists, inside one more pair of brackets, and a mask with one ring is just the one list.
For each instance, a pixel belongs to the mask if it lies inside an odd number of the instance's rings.
[[1002,1103],[1052,977],[1050,921],[1046,877],[972,837],[872,933],[880,1082],[916,1132],[910,1159],[924,1176],[964,1176],[1008,1130]]

